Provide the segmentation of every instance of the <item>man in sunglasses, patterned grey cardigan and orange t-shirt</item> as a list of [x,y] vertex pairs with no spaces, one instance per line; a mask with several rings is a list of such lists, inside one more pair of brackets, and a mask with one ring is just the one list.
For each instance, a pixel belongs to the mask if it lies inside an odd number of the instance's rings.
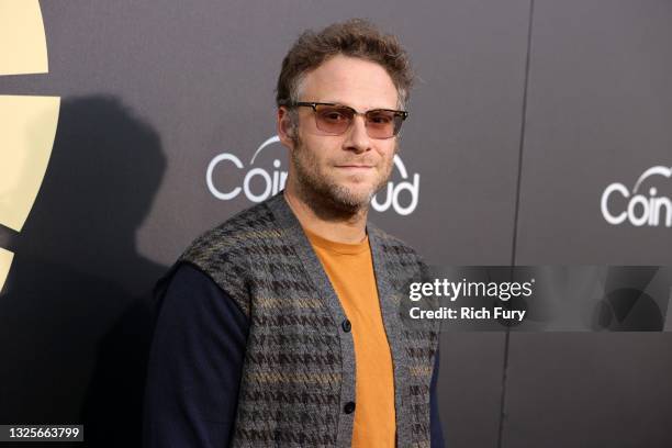
[[146,447],[443,445],[437,331],[399,315],[422,261],[367,224],[411,81],[396,40],[361,20],[294,43],[277,94],[285,190],[159,284]]

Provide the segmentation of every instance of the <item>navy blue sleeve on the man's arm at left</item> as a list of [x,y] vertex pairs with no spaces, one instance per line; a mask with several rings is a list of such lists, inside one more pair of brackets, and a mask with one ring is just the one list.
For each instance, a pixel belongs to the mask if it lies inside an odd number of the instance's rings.
[[180,265],[163,292],[147,366],[143,446],[229,444],[249,323],[197,267]]

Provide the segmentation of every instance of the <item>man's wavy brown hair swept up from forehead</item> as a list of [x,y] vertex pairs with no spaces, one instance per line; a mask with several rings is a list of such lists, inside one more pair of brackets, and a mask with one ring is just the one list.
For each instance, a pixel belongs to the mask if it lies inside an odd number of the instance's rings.
[[334,23],[318,33],[312,30],[303,32],[282,60],[277,105],[299,101],[298,89],[304,75],[336,55],[358,57],[381,65],[396,87],[399,107],[405,107],[413,85],[408,55],[395,36],[382,34],[363,19]]

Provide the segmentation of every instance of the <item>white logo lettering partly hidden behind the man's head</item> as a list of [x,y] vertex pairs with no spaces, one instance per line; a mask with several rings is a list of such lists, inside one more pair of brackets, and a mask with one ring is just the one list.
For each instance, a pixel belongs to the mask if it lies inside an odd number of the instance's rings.
[[[269,152],[265,152],[269,147],[272,147],[270,153],[273,153],[273,157],[269,157],[267,155]],[[261,156],[261,153],[266,157]],[[222,201],[231,201],[239,194],[251,202],[265,201],[284,188],[288,171],[283,168],[281,159],[287,161],[284,148],[280,145],[277,135],[257,148],[247,167],[234,154],[219,154],[208,165],[205,172],[208,189],[212,195]],[[378,212],[392,210],[405,216],[413,213],[417,206],[419,175],[410,176],[399,155],[394,156],[394,167],[399,177],[393,172],[388,184],[371,200],[371,206]]]

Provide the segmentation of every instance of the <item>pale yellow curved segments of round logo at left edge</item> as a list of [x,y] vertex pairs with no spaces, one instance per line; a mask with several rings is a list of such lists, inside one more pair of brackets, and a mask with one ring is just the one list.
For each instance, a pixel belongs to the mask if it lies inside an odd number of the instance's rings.
[[[0,76],[48,72],[37,0],[0,0]],[[0,94],[0,224],[21,232],[46,173],[59,97]],[[0,291],[13,254],[0,248]]]

